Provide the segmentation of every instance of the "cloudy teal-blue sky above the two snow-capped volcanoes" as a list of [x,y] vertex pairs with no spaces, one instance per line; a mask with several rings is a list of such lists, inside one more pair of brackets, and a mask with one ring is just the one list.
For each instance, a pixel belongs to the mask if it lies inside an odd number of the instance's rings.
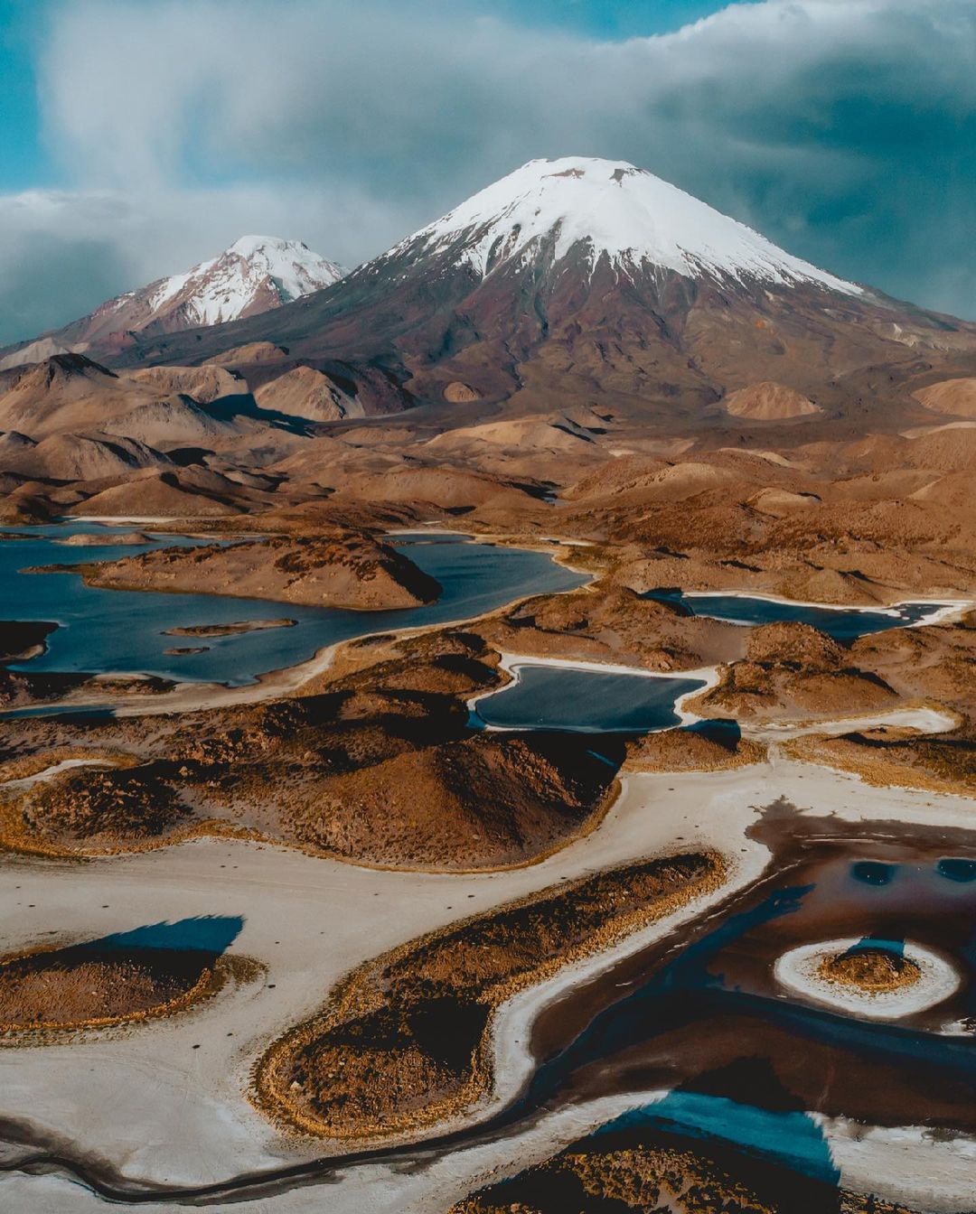
[[0,0],[0,344],[245,233],[357,265],[538,157],[976,319],[976,0]]

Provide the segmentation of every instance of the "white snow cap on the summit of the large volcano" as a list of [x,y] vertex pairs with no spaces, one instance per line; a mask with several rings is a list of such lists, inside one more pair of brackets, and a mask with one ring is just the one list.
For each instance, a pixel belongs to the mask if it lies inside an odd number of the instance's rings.
[[552,248],[556,261],[583,246],[591,267],[606,256],[624,272],[649,265],[688,278],[815,283],[862,294],[652,172],[588,157],[530,160],[395,251],[450,249],[484,277],[543,245]]

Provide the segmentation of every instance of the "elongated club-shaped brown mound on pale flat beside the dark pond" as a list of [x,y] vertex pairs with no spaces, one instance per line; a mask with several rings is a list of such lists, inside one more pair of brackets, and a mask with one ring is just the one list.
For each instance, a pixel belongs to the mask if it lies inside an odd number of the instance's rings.
[[571,960],[719,887],[724,862],[679,855],[543,890],[354,970],[276,1042],[256,1099],[306,1134],[409,1134],[489,1088],[494,1009]]

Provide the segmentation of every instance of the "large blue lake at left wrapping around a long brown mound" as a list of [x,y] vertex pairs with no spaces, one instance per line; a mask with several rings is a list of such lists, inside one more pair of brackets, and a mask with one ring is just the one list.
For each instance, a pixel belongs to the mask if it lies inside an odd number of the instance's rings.
[[[12,528],[10,528],[12,531]],[[131,532],[119,528],[52,524],[25,527],[27,538],[0,541],[0,619],[55,620],[47,652],[15,665],[40,671],[149,674],[177,681],[242,686],[257,675],[311,658],[318,649],[368,632],[464,620],[533,594],[572,590],[585,575],[556,565],[544,552],[467,543],[465,537],[404,535],[405,550],[443,586],[437,602],[402,611],[356,612],[297,607],[257,599],[100,590],[72,573],[27,574],[25,567],[118,560],[153,548],[212,540],[157,537],[151,544],[72,549],[55,543],[79,532]],[[164,636],[170,628],[234,624],[289,618],[295,628],[277,628],[225,637]],[[205,645],[205,653],[166,654],[180,646]]]

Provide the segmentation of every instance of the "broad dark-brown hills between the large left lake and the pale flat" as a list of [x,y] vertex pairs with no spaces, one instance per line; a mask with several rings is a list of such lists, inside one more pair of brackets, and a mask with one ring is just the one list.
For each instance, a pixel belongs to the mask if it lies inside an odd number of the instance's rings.
[[46,753],[68,750],[123,755],[126,766],[78,767],[7,795],[2,839],[97,853],[244,833],[357,863],[449,870],[530,862],[597,824],[613,765],[557,734],[469,731],[464,700],[499,682],[498,654],[478,636],[433,634],[375,657],[291,700],[10,721],[8,760],[38,755],[47,766]]

